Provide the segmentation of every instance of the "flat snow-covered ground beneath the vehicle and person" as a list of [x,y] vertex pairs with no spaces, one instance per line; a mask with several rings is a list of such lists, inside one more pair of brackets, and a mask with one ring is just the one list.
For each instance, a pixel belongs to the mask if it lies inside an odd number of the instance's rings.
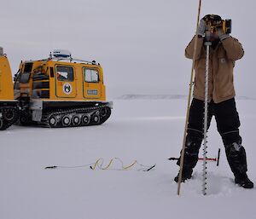
[[[113,115],[101,126],[44,129],[13,126],[0,132],[1,219],[156,219],[254,218],[256,190],[233,182],[214,119],[209,157],[221,148],[220,165],[209,162],[207,196],[201,194],[199,162],[194,179],[177,196],[173,177],[183,137],[186,100],[119,98]],[[247,149],[248,175],[256,182],[254,124],[256,101],[237,100],[241,136]],[[45,170],[49,165],[77,166],[104,158],[125,165],[156,164],[148,172],[90,170],[87,167]],[[113,162],[111,168],[119,168]]]

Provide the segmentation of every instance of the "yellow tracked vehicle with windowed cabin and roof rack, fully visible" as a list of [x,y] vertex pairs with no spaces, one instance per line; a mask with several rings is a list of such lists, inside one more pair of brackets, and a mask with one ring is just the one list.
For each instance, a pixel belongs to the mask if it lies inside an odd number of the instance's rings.
[[106,101],[102,66],[96,61],[73,59],[69,51],[61,49],[44,60],[21,61],[14,91],[21,125],[59,128],[102,124],[113,106]]

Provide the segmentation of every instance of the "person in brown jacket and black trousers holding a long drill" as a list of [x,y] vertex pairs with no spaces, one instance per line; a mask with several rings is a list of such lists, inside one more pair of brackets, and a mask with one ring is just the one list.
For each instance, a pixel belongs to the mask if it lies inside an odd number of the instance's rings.
[[[212,32],[207,22],[218,27]],[[244,55],[241,43],[222,29],[222,19],[217,14],[207,14],[201,19],[197,30],[198,43],[195,54],[194,97],[189,108],[189,124],[185,142],[182,182],[190,179],[198,161],[198,153],[203,140],[206,48],[210,41],[209,87],[208,87],[208,124],[215,117],[218,133],[221,135],[230,169],[235,182],[244,188],[253,188],[247,176],[247,157],[239,134],[240,120],[236,110],[233,68],[235,62]],[[207,32],[207,34],[206,34]],[[185,56],[193,59],[195,37],[185,49]],[[180,164],[180,159],[177,165]],[[178,182],[178,174],[174,178]]]

